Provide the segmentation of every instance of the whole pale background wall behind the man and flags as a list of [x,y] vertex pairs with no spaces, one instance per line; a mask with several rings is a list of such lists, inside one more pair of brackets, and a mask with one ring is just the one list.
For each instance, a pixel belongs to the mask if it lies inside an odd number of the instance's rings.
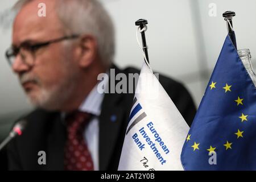
[[[15,3],[0,1],[0,17]],[[124,68],[140,68],[142,55],[137,45],[135,20],[148,20],[146,32],[152,68],[187,86],[197,105],[203,96],[209,74],[216,63],[225,36],[222,13],[236,11],[233,20],[240,48],[250,48],[256,56],[254,0],[102,0],[115,23],[117,50],[115,63]],[[217,16],[208,15],[209,3],[216,3]],[[0,19],[1,20],[1,19]],[[11,28],[0,22],[0,116],[13,111],[31,109],[13,75],[4,53],[11,44]],[[255,59],[253,59],[255,61]],[[209,74],[203,74],[204,71]],[[202,74],[204,77],[202,77]]]

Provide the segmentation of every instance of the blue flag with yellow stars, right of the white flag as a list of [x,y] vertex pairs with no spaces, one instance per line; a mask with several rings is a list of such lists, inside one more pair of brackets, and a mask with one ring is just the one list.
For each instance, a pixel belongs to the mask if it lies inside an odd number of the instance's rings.
[[[186,170],[256,169],[256,88],[226,37],[181,153]],[[216,161],[210,160],[214,151]],[[215,164],[214,164],[215,163]]]

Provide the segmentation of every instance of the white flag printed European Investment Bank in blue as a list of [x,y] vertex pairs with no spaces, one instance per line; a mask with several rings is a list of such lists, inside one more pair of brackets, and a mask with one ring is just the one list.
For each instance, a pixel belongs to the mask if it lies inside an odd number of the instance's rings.
[[189,127],[144,63],[118,170],[183,170],[180,153]]

